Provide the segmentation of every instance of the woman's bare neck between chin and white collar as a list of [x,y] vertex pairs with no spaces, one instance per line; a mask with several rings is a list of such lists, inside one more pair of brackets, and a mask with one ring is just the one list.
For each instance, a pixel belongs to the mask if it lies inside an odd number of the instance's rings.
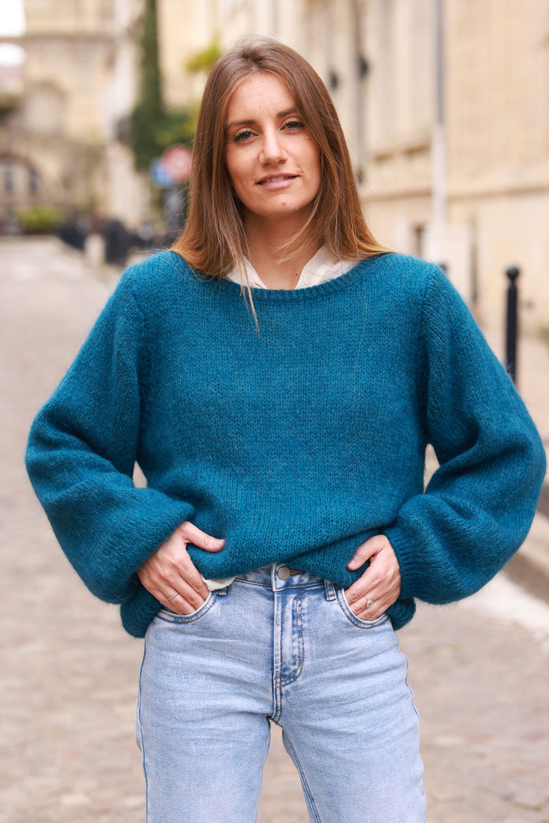
[[[297,219],[296,219],[297,218]],[[306,219],[306,216],[305,216]],[[293,289],[300,273],[322,243],[305,239],[289,260],[280,260],[277,248],[295,235],[305,219],[292,215],[272,220],[258,215],[246,216],[244,229],[249,246],[249,262],[268,289]]]

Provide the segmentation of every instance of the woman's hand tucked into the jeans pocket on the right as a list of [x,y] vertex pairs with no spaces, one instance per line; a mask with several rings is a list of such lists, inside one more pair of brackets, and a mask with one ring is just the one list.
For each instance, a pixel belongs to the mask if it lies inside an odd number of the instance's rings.
[[[370,565],[364,574],[344,591],[357,617],[375,620],[400,594],[400,566],[384,534],[375,534],[361,543],[347,563],[347,569],[358,569],[366,560],[370,560]],[[371,605],[367,606],[370,601]]]

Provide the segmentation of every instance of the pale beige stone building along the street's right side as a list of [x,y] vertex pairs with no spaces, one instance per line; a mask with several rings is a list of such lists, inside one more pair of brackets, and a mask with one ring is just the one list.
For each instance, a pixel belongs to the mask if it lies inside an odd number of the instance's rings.
[[444,263],[493,328],[516,264],[523,328],[549,325],[549,0],[210,0],[196,13],[159,0],[159,12],[174,104],[201,88],[181,79],[191,45],[283,40],[333,96],[379,240]]

